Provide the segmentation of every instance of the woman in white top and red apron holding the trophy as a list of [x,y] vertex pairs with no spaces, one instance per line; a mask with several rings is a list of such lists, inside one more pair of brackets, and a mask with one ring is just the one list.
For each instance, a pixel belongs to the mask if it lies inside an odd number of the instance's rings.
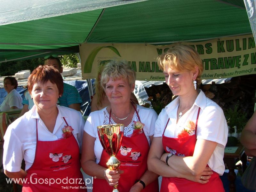
[[[101,86],[110,105],[92,112],[84,126],[82,168],[93,180],[93,191],[112,191],[118,183],[118,190],[126,191],[158,191],[155,173],[147,168],[148,150],[153,138],[156,112],[131,102],[131,92],[135,86],[135,71],[124,61],[110,61],[103,68]],[[140,134],[135,135],[134,121],[145,124]],[[97,126],[103,124],[124,124],[122,146],[116,155],[122,163],[122,171],[111,171],[106,163],[108,154],[103,150]],[[123,173],[122,173],[123,172]],[[120,173],[122,173],[120,175]]]

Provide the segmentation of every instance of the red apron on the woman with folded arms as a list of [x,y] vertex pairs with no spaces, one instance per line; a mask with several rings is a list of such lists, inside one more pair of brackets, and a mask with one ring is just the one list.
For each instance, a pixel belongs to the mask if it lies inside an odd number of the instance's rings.
[[[165,129],[167,124],[169,123],[170,118],[165,125],[162,141],[163,147],[166,153],[173,153],[178,156],[193,156],[194,149],[196,145],[196,130],[197,130],[197,121],[199,116],[200,108],[198,109],[197,117],[196,117],[196,127],[195,134],[190,135],[185,138],[170,138],[164,136]],[[208,165],[207,165],[208,166]],[[197,183],[194,181],[190,181],[183,178],[177,177],[163,177],[160,192],[167,191],[195,191],[195,192],[205,192],[205,191],[218,191],[225,192],[223,188],[222,181],[220,180],[219,174],[213,172],[209,182],[206,184]]]

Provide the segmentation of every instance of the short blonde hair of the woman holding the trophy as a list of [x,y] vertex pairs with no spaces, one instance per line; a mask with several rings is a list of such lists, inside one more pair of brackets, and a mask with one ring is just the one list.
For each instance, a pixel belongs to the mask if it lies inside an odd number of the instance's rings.
[[132,84],[135,84],[136,73],[127,61],[110,60],[101,73],[100,84],[103,89],[105,89],[110,78],[114,81],[117,79],[127,80],[128,84],[132,86]]

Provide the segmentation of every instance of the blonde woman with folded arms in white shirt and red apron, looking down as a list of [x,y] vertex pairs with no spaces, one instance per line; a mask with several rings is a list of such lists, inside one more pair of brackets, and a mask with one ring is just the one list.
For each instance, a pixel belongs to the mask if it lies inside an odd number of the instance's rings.
[[228,127],[222,109],[197,89],[203,63],[194,48],[177,45],[158,57],[178,95],[159,114],[148,169],[163,176],[161,191],[224,191]]

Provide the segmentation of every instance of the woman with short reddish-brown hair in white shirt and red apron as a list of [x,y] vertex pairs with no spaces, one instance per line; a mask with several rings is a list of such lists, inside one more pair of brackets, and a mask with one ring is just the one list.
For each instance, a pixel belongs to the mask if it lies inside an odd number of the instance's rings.
[[[40,65],[31,73],[28,92],[35,105],[9,125],[4,135],[4,173],[9,178],[28,179],[29,183],[19,183],[25,192],[63,191],[63,183],[49,185],[46,179],[56,181],[68,177],[83,181],[79,148],[84,118],[74,109],[56,105],[63,93],[63,79],[52,66]],[[25,170],[21,169],[23,158]],[[39,179],[45,182],[36,182]],[[84,187],[76,182],[65,186]]]

